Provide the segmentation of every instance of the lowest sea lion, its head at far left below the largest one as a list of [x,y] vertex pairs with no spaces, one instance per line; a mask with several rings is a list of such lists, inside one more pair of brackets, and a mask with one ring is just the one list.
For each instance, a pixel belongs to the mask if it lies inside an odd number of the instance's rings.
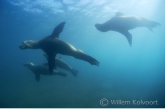
[[[47,66],[36,65],[33,63],[26,63],[26,64],[24,64],[24,66],[26,66],[28,69],[30,69],[35,74],[35,79],[37,82],[40,81],[40,75],[49,75],[49,68]],[[67,74],[62,73],[57,70],[53,70],[52,75],[60,75],[63,77],[67,76]]]

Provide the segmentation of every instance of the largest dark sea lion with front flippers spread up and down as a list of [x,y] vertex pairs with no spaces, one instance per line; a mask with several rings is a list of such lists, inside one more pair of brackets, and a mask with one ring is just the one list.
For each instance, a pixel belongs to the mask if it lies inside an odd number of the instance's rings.
[[55,66],[55,57],[56,54],[63,54],[73,56],[77,59],[81,59],[89,62],[91,65],[99,66],[99,61],[94,59],[93,57],[85,54],[83,51],[76,49],[71,44],[58,39],[59,34],[62,32],[65,22],[57,25],[53,31],[53,33],[47,37],[44,37],[41,40],[26,40],[22,42],[19,46],[20,49],[42,49],[48,55],[48,65],[49,72],[52,73]]

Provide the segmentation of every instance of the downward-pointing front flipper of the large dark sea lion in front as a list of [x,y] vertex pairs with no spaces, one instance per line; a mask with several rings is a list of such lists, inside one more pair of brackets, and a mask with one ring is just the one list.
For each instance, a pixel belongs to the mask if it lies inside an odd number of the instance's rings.
[[52,75],[53,69],[56,69],[55,54],[48,54],[49,73]]

